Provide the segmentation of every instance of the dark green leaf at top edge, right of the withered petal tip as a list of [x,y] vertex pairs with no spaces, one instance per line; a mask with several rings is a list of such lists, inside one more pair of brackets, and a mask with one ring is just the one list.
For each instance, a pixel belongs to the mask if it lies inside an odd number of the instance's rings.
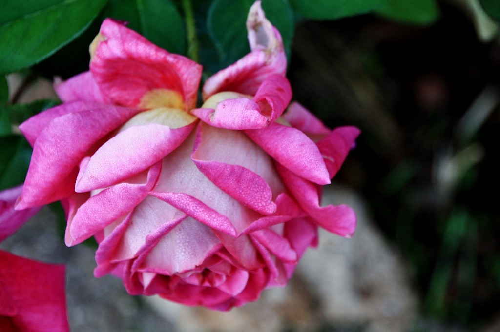
[[382,6],[385,0],[290,0],[292,8],[311,19],[338,19],[364,14]]

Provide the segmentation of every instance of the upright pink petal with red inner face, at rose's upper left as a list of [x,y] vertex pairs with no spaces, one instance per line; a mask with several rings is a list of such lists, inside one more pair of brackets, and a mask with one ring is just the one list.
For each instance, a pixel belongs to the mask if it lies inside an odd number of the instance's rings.
[[178,93],[186,111],[195,106],[199,64],[111,19],[104,20],[99,34],[90,71],[103,94],[119,105],[137,107],[144,94],[161,89]]

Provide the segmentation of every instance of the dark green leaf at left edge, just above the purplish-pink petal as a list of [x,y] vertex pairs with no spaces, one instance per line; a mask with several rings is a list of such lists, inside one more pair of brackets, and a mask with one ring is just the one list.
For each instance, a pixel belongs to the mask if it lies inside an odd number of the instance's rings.
[[0,190],[24,182],[31,159],[31,147],[24,137],[0,137]]

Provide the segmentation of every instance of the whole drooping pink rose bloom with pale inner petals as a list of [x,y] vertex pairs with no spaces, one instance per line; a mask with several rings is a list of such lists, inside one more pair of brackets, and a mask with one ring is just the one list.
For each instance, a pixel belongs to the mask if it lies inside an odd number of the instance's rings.
[[359,131],[289,105],[260,2],[246,25],[251,52],[195,108],[200,65],[105,20],[90,70],[56,83],[64,103],[19,127],[33,155],[16,209],[61,200],[66,244],[99,244],[96,277],[216,310],[286,284],[318,226],[351,236],[353,211],[319,197]]

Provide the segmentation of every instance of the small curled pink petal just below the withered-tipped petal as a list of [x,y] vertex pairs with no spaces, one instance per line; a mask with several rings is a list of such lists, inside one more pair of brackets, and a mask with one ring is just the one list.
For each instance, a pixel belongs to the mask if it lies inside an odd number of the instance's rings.
[[259,105],[260,113],[267,123],[274,122],[291,100],[291,86],[286,77],[270,75],[258,87],[253,100]]

